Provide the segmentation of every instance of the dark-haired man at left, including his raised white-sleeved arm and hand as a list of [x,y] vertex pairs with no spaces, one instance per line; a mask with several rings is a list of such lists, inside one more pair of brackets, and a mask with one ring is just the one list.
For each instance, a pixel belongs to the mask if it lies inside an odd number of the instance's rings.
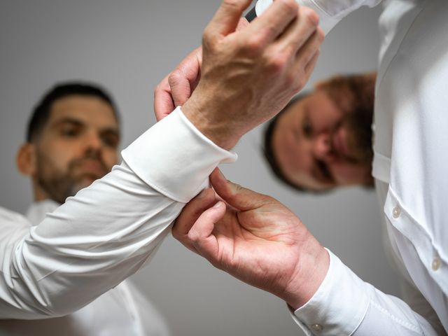
[[[141,297],[120,283],[151,260],[214,168],[235,161],[230,148],[302,89],[323,40],[316,13],[293,0],[277,0],[258,20],[276,29],[256,39],[257,25],[237,31],[250,3],[223,1],[204,30],[203,76],[193,97],[127,146],[120,165],[111,169],[118,123],[108,102],[88,94],[53,102],[40,134],[31,134],[31,143],[20,149],[18,165],[32,176],[36,200],[65,202],[45,216],[44,209],[31,211],[38,225],[0,208],[0,319],[6,333],[164,335],[141,309]],[[173,104],[171,98],[164,102]],[[87,309],[103,298],[101,307]]]

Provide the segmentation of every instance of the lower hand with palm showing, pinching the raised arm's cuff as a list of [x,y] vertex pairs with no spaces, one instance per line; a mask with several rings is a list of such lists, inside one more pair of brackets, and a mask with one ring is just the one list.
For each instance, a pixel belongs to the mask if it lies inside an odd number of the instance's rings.
[[325,248],[272,197],[225,180],[218,169],[210,181],[216,193],[205,189],[191,200],[173,236],[215,267],[301,307],[328,270]]

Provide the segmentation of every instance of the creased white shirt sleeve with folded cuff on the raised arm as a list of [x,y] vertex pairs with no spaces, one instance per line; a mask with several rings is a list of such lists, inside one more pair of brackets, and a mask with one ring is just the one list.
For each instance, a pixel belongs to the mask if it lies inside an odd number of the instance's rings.
[[148,261],[213,169],[236,160],[180,108],[122,155],[35,227],[0,211],[0,318],[63,316],[116,286]]

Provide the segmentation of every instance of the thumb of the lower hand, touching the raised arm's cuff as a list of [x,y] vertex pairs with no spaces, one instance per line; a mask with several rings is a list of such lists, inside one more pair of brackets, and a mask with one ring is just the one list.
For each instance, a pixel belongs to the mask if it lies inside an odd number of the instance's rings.
[[211,173],[210,182],[225,202],[242,211],[256,209],[272,200],[269,196],[255,193],[226,180],[218,168]]

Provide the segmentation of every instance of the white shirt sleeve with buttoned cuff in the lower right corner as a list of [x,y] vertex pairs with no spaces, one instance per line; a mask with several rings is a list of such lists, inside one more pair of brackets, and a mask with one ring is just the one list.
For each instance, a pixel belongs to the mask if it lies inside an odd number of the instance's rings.
[[306,335],[440,335],[405,302],[361,280],[330,251],[313,297],[293,312]]

